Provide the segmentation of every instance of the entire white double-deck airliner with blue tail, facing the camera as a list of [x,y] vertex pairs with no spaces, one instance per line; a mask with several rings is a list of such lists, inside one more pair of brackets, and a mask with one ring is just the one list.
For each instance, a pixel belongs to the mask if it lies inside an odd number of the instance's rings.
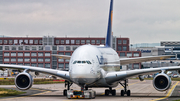
[[[139,76],[140,80],[143,80],[144,74],[159,72],[159,74],[154,77],[153,86],[158,91],[168,90],[171,86],[171,78],[165,74],[165,72],[171,70],[177,70],[180,72],[179,66],[120,71],[120,65],[161,60],[172,56],[149,56],[120,59],[116,51],[110,47],[112,15],[113,0],[110,2],[109,22],[105,46],[83,45],[78,47],[73,52],[72,56],[53,55],[61,59],[70,60],[69,71],[7,64],[0,64],[0,69],[3,70],[5,68],[10,68],[24,70],[15,78],[15,85],[20,90],[27,90],[32,86],[33,78],[29,74],[29,71],[33,71],[35,73],[46,73],[64,78],[66,80],[65,85],[67,85],[67,90],[70,89],[72,83],[75,83],[79,85],[82,90],[88,90],[88,88],[93,87],[106,87],[109,89],[105,90],[105,95],[116,95],[116,90],[112,88],[121,84],[124,87],[124,90],[121,90],[121,96],[124,96],[124,94],[130,96],[130,90],[127,90],[128,78]],[[121,83],[121,81],[124,81],[124,83]],[[67,94],[67,90],[64,90],[64,95]]]

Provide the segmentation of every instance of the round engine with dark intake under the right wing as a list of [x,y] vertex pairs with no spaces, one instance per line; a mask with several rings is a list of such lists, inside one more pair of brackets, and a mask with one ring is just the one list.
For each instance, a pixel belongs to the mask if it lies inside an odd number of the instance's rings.
[[158,74],[153,79],[153,86],[158,91],[166,91],[171,86],[171,78],[164,73]]

